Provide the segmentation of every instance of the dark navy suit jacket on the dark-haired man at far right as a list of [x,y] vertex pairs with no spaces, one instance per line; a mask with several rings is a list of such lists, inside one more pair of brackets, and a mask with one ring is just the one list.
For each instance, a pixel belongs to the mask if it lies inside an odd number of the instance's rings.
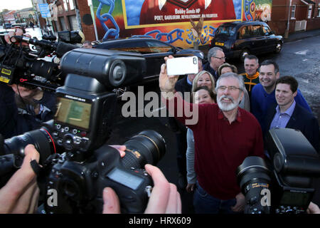
[[[270,129],[270,125],[276,113],[276,107],[277,107],[277,104],[272,105],[272,107],[268,109],[268,112],[265,118],[265,123],[267,126],[267,130],[264,133],[265,136],[267,135]],[[306,139],[314,147],[314,149],[316,149],[316,152],[319,153],[319,147],[320,147],[319,123],[312,113],[309,113],[306,109],[302,108],[302,106],[296,103],[294,112],[292,113],[292,116],[289,119],[289,122],[287,123],[286,128],[300,130],[302,134],[304,134]]]

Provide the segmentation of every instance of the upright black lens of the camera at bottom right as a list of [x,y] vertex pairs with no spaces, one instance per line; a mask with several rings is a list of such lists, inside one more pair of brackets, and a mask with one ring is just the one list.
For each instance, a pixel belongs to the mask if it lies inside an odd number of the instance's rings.
[[246,157],[238,167],[238,184],[245,195],[245,214],[270,214],[270,195],[263,193],[263,190],[269,191],[270,175],[271,172],[261,157]]

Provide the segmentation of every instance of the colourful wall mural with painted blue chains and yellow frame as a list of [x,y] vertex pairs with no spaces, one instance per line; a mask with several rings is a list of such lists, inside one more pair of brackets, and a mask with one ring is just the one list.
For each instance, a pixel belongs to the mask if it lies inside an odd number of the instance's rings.
[[146,36],[190,47],[209,44],[228,21],[270,20],[272,0],[92,0],[101,40]]

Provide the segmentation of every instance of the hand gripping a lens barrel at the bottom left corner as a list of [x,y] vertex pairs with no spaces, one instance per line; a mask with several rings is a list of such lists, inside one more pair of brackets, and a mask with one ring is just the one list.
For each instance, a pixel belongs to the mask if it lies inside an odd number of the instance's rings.
[[30,165],[32,160],[39,161],[40,155],[33,145],[25,148],[21,168],[0,190],[0,213],[33,213],[38,207],[39,189],[36,174]]

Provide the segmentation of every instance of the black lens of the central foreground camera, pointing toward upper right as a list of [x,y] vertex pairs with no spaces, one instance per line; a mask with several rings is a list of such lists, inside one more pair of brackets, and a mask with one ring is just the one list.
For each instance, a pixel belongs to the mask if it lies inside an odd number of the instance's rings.
[[154,130],[144,130],[127,142],[122,162],[127,168],[140,168],[146,164],[156,165],[166,152],[164,138]]

